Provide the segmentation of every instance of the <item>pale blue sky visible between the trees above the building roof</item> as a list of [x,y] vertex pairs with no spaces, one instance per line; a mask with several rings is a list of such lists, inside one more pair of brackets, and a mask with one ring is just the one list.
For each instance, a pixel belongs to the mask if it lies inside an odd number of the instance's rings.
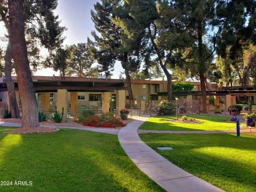
[[[77,43],[86,43],[87,37],[91,39],[91,31],[95,30],[94,23],[91,20],[91,10],[97,0],[59,0],[55,13],[59,15],[61,26],[68,28],[65,31],[66,36],[64,44],[71,45]],[[120,71],[123,71],[121,65],[116,63],[112,78],[118,78]],[[36,72],[35,75],[59,75],[52,69],[43,69]]]

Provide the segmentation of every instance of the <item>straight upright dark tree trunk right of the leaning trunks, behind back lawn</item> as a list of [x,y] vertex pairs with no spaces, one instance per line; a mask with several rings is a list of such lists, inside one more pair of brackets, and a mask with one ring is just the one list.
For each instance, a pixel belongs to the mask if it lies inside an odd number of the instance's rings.
[[206,78],[204,76],[205,72],[205,63],[203,61],[203,31],[202,31],[202,23],[198,24],[198,71],[200,77],[200,86],[201,86],[201,98],[202,98],[202,112],[207,113],[206,107],[206,88],[205,81]]

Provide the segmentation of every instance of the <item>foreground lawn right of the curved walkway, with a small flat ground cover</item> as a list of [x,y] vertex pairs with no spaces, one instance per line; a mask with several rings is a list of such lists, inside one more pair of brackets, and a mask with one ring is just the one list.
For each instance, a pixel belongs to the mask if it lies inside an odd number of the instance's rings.
[[[242,134],[140,134],[170,162],[226,191],[256,191],[256,137]],[[173,150],[157,150],[172,147]]]

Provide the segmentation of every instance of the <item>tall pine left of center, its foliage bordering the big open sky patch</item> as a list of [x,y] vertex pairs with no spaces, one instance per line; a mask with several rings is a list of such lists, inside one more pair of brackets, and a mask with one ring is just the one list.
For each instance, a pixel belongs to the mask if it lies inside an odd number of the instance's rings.
[[[131,39],[121,27],[120,17],[129,19],[122,1],[102,0],[94,5],[91,12],[95,29],[100,33],[98,36],[92,33],[95,42],[88,39],[89,50],[97,59],[102,71],[113,70],[116,61],[120,61],[126,76],[129,100],[133,100],[131,87],[131,72],[140,66],[139,48],[140,38]],[[117,17],[118,14],[118,17]]]

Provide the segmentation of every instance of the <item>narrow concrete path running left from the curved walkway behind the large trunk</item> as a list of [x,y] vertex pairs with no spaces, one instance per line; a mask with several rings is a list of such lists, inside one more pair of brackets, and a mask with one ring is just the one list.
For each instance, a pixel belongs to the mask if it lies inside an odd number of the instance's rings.
[[[0,122],[0,126],[14,126],[20,127],[21,124],[19,123],[7,123],[7,122]],[[41,125],[42,127],[46,128],[57,128],[57,129],[77,129],[77,130],[86,130],[86,131],[94,131],[94,132],[101,132],[101,133],[109,133],[109,134],[117,134],[119,129],[100,129],[100,128],[86,128],[86,127],[68,127],[68,126],[47,126]]]

